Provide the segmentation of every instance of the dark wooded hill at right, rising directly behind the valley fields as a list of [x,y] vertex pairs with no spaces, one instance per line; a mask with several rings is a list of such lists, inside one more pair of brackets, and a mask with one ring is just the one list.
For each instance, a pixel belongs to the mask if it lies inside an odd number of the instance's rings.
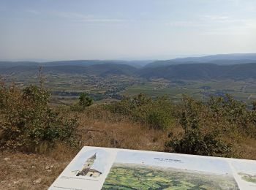
[[246,79],[256,78],[255,64],[175,64],[169,66],[145,67],[138,72],[140,77],[181,80]]

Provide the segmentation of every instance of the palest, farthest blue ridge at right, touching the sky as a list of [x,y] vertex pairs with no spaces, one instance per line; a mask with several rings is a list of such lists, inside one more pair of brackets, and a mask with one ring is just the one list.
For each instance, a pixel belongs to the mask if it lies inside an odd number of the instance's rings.
[[174,58],[165,61],[154,61],[146,67],[167,66],[172,64],[249,64],[256,62],[256,53],[219,54],[213,56]]

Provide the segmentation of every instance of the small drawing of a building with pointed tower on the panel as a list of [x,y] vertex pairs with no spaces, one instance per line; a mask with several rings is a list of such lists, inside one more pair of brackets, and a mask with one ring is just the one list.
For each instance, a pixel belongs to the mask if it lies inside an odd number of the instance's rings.
[[97,178],[99,175],[102,174],[102,172],[99,172],[98,170],[95,170],[92,168],[92,165],[94,164],[94,161],[97,159],[96,153],[94,153],[93,156],[89,157],[89,159],[86,160],[86,162],[83,164],[82,170],[80,170],[76,176],[83,175],[83,176],[89,176]]

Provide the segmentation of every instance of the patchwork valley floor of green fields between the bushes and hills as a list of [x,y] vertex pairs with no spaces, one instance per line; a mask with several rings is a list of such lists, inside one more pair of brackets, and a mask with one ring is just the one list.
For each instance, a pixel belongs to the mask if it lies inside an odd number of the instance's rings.
[[[53,93],[57,104],[71,104],[81,92],[91,94],[94,100],[116,99],[119,96],[134,96],[144,93],[156,97],[167,95],[174,102],[178,102],[183,94],[198,100],[206,100],[209,96],[231,94],[236,99],[250,103],[256,100],[256,80],[166,80],[161,78],[145,79],[140,77],[127,77],[125,75],[109,75],[105,77],[96,75],[45,75],[45,87]],[[16,78],[7,77],[9,81],[15,80],[18,86],[39,84],[37,75],[18,75]],[[8,81],[8,80],[7,80]],[[63,93],[64,92],[64,93]],[[97,94],[96,96],[94,96]],[[100,95],[102,94],[102,95]],[[114,94],[114,95],[113,95]],[[100,98],[98,98],[101,96]],[[62,102],[62,103],[61,103]]]

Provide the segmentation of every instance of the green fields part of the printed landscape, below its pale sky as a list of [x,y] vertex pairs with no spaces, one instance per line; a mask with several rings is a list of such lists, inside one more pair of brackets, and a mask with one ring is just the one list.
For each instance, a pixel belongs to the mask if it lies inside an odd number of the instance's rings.
[[102,189],[238,189],[230,175],[143,164],[113,164]]

